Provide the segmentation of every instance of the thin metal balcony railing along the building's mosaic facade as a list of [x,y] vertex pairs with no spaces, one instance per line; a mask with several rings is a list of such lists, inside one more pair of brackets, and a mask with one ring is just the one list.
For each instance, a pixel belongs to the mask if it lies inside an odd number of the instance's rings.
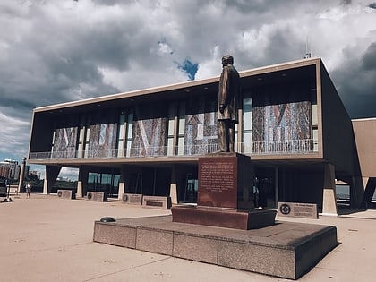
[[[308,154],[318,150],[318,142],[313,139],[289,141],[256,141],[240,143],[235,146],[238,153],[248,155],[273,155],[273,154]],[[32,152],[30,159],[75,159],[75,158],[161,158],[161,157],[187,157],[201,156],[218,151],[218,143],[205,145],[160,147],[136,147],[128,150],[84,150],[84,151],[53,151]]]

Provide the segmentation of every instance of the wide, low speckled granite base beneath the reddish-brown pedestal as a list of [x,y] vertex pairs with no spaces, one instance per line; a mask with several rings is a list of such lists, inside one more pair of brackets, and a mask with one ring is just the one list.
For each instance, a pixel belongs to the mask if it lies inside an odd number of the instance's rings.
[[172,221],[171,216],[94,224],[94,242],[297,279],[335,248],[337,229],[291,222],[239,230]]

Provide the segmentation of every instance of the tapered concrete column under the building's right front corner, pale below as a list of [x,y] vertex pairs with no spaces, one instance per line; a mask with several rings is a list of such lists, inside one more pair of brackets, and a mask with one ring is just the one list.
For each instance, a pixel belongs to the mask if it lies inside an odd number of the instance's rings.
[[322,193],[322,214],[338,216],[336,201],[336,175],[332,164],[324,165],[324,190]]

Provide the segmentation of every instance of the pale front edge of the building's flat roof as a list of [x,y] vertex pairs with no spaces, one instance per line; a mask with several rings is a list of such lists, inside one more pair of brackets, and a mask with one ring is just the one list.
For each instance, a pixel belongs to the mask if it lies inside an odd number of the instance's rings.
[[[251,77],[254,75],[261,75],[265,73],[273,73],[273,72],[279,72],[284,70],[291,70],[299,67],[314,65],[314,64],[320,64],[321,60],[319,57],[313,57],[308,59],[301,59],[296,61],[291,61],[287,63],[281,63],[281,64],[272,64],[268,66],[258,67],[250,70],[244,70],[239,72],[241,78]],[[179,82],[175,84],[169,84],[165,86],[158,86],[143,90],[133,90],[128,92],[122,92],[117,94],[111,94],[106,96],[100,96],[96,98],[87,98],[87,99],[81,99],[77,101],[72,102],[66,102],[61,104],[55,104],[50,106],[44,106],[44,107],[36,107],[34,109],[34,112],[45,112],[45,111],[54,111],[62,108],[67,107],[80,107],[80,106],[86,106],[90,104],[99,104],[101,102],[108,102],[118,99],[124,99],[124,98],[137,98],[137,97],[146,97],[148,95],[158,94],[161,92],[168,92],[168,91],[177,91],[177,90],[189,90],[194,87],[200,87],[203,85],[209,85],[209,84],[217,84],[219,81],[219,75],[209,78],[209,79],[203,79],[203,80],[197,80],[197,81],[184,81]]]

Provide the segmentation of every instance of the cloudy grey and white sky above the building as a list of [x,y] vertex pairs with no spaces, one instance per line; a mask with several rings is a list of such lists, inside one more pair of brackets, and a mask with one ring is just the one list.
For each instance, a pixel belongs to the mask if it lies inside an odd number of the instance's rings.
[[[376,116],[374,0],[2,0],[0,160],[32,109],[320,56],[351,117]],[[147,79],[145,79],[147,78]]]

